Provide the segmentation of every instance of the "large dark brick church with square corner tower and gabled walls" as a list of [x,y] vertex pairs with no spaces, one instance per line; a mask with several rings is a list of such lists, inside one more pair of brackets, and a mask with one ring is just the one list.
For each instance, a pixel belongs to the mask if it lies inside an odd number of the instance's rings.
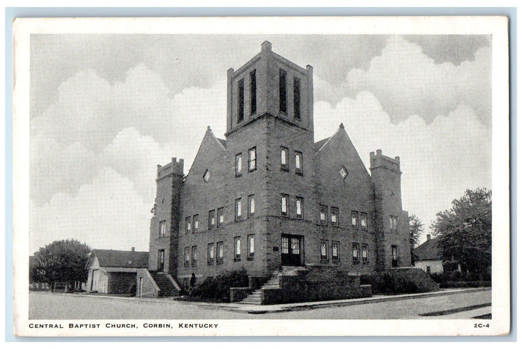
[[365,168],[343,125],[314,142],[313,69],[262,50],[228,70],[226,140],[208,128],[194,163],[158,165],[149,270],[188,285],[245,268],[370,274],[410,266],[400,159]]

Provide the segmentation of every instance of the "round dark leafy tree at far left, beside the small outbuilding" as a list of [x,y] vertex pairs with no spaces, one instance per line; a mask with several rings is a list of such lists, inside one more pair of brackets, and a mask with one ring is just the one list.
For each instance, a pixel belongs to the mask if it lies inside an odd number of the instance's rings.
[[87,280],[87,254],[91,251],[77,240],[61,240],[40,247],[29,259],[29,278],[35,282]]

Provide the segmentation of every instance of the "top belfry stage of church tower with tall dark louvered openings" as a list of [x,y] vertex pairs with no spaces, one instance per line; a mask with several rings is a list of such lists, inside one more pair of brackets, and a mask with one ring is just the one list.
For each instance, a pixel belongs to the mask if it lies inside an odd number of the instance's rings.
[[227,71],[227,135],[267,114],[313,132],[313,68],[272,52],[261,52],[238,70]]

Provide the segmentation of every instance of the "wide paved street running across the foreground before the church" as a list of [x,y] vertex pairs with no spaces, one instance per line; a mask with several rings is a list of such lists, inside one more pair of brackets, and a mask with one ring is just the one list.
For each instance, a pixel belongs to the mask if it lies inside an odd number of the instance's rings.
[[206,307],[182,301],[113,298],[49,292],[29,293],[29,319],[469,319],[491,313],[482,307],[454,314],[420,316],[491,302],[491,290],[354,305],[329,305],[279,313],[239,313],[238,306]]

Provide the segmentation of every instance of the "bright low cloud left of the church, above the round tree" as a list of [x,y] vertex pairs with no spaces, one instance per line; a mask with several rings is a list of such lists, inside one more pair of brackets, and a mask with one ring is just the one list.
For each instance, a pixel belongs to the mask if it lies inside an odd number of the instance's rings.
[[30,251],[67,238],[92,248],[148,251],[150,207],[131,181],[102,168],[74,195],[58,192],[41,207],[31,202]]

